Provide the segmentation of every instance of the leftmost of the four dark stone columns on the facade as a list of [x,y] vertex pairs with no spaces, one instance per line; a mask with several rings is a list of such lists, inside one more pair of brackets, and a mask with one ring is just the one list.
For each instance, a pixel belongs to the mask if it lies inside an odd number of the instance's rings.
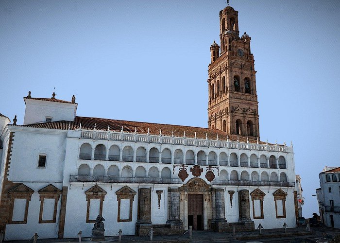
[[146,236],[149,234],[153,223],[151,221],[151,188],[138,189],[138,208],[136,235]]

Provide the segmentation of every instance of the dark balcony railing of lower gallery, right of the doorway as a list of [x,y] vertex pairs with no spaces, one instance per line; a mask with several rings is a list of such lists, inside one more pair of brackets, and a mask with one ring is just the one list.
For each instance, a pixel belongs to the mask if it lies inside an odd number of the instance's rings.
[[294,182],[287,181],[236,181],[236,180],[213,180],[213,185],[228,186],[271,186],[271,187],[294,187]]

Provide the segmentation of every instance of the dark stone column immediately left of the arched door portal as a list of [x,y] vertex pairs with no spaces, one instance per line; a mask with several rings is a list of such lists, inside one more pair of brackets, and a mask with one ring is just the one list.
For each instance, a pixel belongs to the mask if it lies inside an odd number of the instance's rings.
[[168,188],[168,220],[167,225],[183,225],[179,217],[180,191],[178,188]]

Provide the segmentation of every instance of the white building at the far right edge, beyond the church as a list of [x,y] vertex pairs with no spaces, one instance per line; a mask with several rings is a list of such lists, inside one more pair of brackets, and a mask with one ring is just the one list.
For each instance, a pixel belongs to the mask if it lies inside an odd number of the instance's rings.
[[319,178],[316,196],[321,221],[325,226],[340,228],[340,167],[325,167]]

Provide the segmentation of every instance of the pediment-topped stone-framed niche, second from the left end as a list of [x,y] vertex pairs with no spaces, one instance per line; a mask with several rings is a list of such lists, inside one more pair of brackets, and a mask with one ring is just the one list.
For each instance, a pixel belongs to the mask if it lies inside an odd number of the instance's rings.
[[40,200],[39,224],[55,223],[61,192],[52,184],[38,191]]

